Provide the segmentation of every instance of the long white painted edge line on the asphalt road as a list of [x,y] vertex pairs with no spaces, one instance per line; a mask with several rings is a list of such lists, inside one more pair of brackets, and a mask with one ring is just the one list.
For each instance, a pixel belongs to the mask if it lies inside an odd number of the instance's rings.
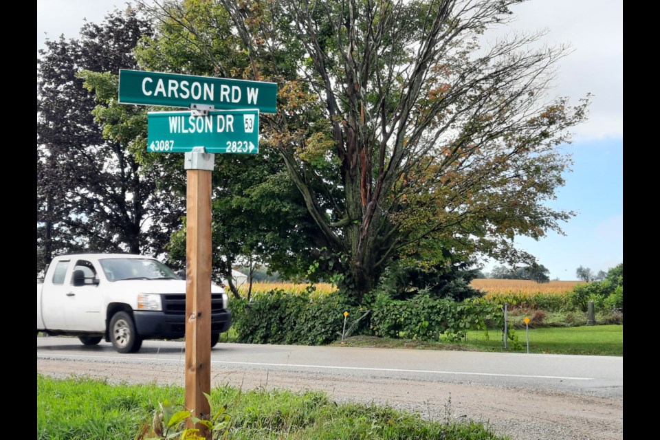
[[[166,361],[166,362],[179,362],[183,363],[184,360],[164,359],[164,358],[137,358],[135,356],[115,356],[107,358],[104,356],[89,356],[89,355],[49,355],[47,353],[40,353],[37,351],[39,358],[89,358],[89,359],[102,359],[109,362],[113,360],[146,360],[146,361]],[[451,374],[451,375],[474,375],[474,376],[499,376],[499,377],[525,377],[529,379],[560,379],[560,380],[594,380],[593,377],[570,377],[570,376],[543,376],[543,375],[526,375],[526,374],[505,374],[505,373],[472,373],[470,371],[440,371],[440,370],[408,370],[408,369],[382,369],[369,366],[336,366],[336,365],[310,365],[310,364],[275,364],[270,362],[239,362],[229,360],[212,360],[212,364],[227,364],[227,365],[249,365],[249,366],[294,366],[305,369],[329,369],[329,370],[358,370],[358,371],[386,371],[389,373],[430,373],[430,374]]]

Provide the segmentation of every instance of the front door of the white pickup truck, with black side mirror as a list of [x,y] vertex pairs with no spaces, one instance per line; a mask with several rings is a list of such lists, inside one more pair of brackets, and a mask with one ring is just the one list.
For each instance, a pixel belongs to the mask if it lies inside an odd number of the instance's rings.
[[[81,270],[85,274],[84,285],[74,285],[76,270]],[[66,294],[65,319],[69,330],[104,331],[105,317],[102,314],[102,286],[99,285],[98,280],[98,272],[91,261],[82,259],[76,261],[67,280],[69,292]]]

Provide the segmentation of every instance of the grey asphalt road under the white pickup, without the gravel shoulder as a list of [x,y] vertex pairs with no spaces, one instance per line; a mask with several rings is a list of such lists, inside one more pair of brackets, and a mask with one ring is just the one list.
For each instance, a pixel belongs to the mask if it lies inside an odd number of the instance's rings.
[[[85,347],[72,338],[37,338],[37,359],[154,366],[183,364],[184,357],[184,342],[145,341],[139,353],[122,355],[105,342]],[[623,358],[613,356],[219,344],[211,351],[211,362],[212,371],[240,369],[471,382],[602,397],[623,397],[624,389]]]

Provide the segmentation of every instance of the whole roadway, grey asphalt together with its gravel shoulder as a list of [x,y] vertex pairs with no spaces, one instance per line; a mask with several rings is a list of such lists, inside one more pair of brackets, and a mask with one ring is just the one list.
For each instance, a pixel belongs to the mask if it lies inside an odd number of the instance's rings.
[[[37,338],[37,371],[184,386],[184,342],[111,344]],[[623,438],[623,358],[221,343],[212,386],[325,391],[336,401],[387,404],[430,419],[488,421],[514,440]]]

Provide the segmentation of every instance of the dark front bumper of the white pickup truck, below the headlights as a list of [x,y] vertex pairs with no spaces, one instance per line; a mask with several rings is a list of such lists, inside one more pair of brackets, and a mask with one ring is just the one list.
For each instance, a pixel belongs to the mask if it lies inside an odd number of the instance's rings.
[[[162,311],[133,311],[137,333],[144,339],[178,339],[186,336],[186,316]],[[232,325],[232,312],[223,310],[211,316],[211,334],[223,333]]]

